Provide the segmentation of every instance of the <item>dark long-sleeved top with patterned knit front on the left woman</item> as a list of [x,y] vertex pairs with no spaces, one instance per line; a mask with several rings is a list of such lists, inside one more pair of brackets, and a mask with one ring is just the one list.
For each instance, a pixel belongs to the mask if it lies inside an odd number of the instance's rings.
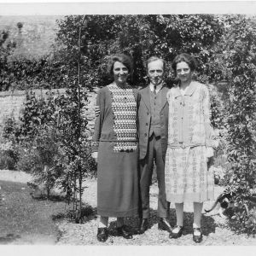
[[93,140],[95,143],[114,142],[114,152],[137,150],[137,99],[134,90],[129,84],[122,87],[109,84],[102,88],[100,94],[103,92],[104,96],[99,96],[101,116],[100,120],[96,119]]

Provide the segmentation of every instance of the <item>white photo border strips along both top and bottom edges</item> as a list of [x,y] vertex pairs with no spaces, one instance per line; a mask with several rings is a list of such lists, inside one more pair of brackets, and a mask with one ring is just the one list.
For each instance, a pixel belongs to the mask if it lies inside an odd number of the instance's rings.
[[[0,0],[0,15],[160,15],[160,14],[246,14],[256,15],[253,1],[108,1],[108,0]],[[1,224],[1,220],[0,220]],[[255,247],[186,246],[0,246],[1,255],[75,256],[75,255],[255,255]]]

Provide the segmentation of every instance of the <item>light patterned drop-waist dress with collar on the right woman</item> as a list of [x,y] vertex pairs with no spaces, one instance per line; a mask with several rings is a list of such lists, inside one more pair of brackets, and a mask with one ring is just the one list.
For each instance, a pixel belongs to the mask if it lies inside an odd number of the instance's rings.
[[207,157],[212,156],[215,142],[207,86],[193,81],[182,95],[177,85],[169,90],[167,100],[166,200],[213,200],[214,176],[212,169],[207,170]]

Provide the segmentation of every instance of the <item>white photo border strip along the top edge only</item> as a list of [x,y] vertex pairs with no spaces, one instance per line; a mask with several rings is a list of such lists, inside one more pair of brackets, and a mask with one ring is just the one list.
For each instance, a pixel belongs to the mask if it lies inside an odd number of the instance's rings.
[[[0,15],[256,14],[254,1],[0,1]],[[17,0],[15,1],[17,2]]]

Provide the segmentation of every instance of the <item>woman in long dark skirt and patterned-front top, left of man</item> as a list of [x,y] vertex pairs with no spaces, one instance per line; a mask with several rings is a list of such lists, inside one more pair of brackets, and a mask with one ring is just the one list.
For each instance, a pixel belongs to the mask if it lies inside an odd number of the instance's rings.
[[109,65],[113,83],[99,90],[92,156],[97,160],[97,239],[108,239],[108,217],[117,217],[119,236],[131,239],[125,217],[138,213],[137,102],[138,93],[127,79],[132,61],[114,55]]

